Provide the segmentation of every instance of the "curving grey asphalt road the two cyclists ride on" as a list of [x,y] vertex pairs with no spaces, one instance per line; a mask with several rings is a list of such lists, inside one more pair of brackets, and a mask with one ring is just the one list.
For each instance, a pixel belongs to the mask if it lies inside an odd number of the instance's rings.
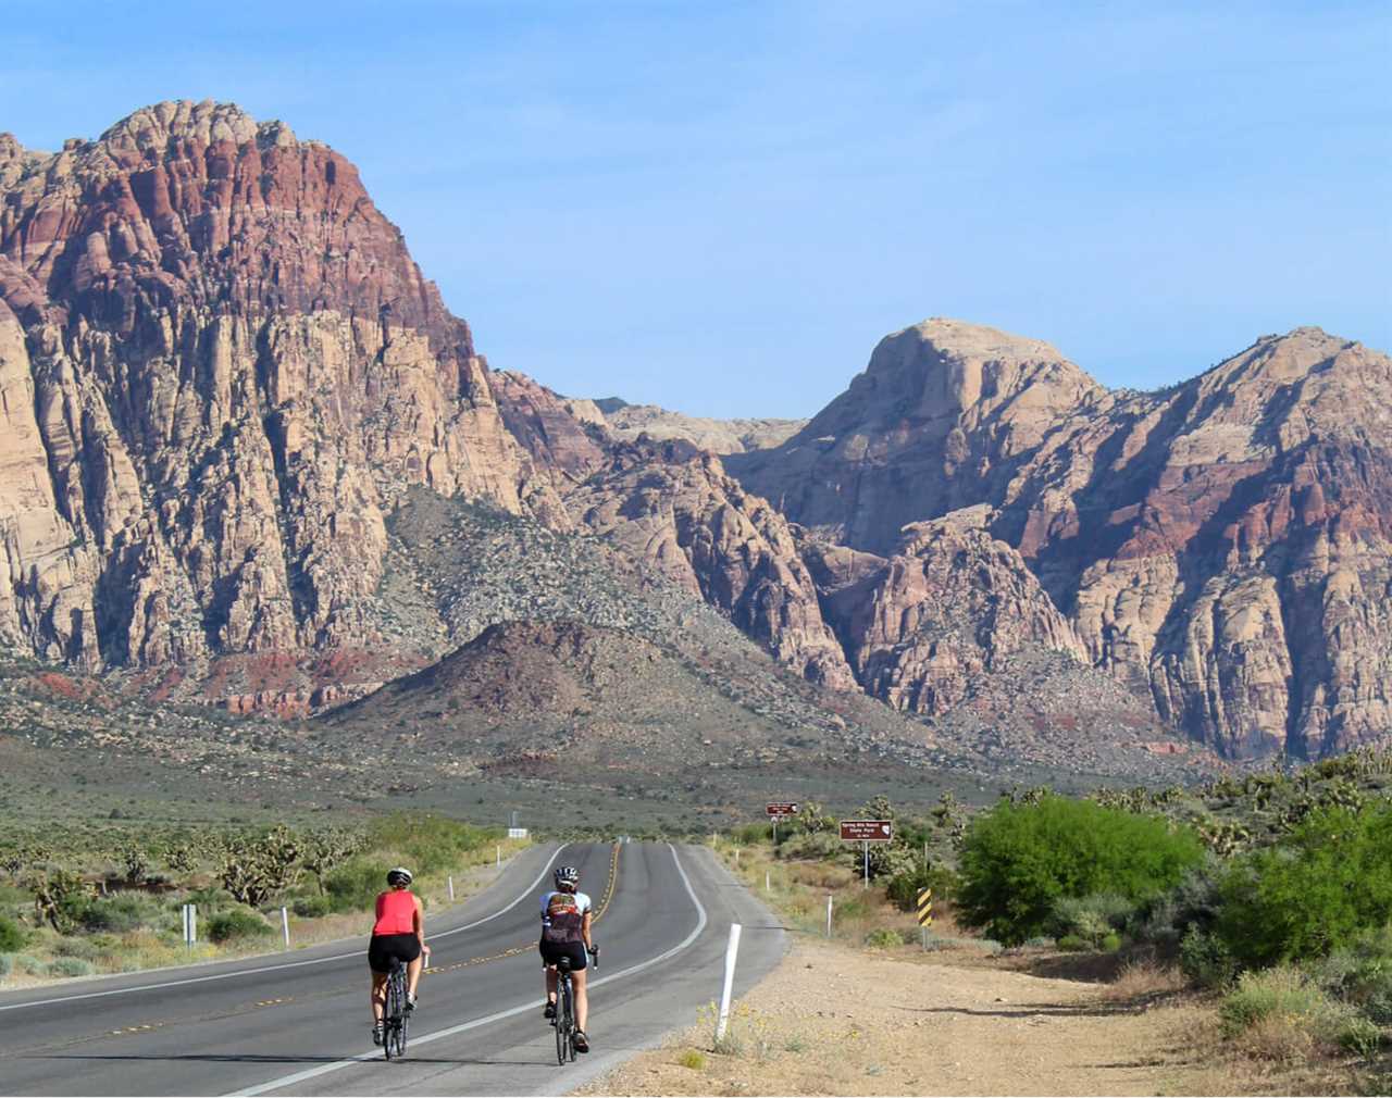
[[[539,896],[580,868],[599,917],[593,1051],[555,1063],[541,1019]],[[426,924],[432,970],[405,1060],[373,1048],[365,942],[0,995],[3,1094],[564,1094],[720,995],[731,923],[736,994],[786,948],[777,918],[702,848],[525,850],[482,895]]]

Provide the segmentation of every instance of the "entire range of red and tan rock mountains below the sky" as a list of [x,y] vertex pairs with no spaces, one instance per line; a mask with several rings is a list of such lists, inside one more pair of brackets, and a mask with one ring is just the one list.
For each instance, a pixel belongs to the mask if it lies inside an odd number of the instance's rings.
[[[1132,394],[934,320],[718,459],[491,370],[352,164],[280,122],[177,102],[57,153],[0,135],[0,644],[237,710],[699,596],[817,690],[960,735],[1340,750],[1392,725],[1389,408],[1386,355],[1317,330]],[[422,494],[477,505],[476,544],[408,546]],[[537,530],[667,594],[479,548]]]

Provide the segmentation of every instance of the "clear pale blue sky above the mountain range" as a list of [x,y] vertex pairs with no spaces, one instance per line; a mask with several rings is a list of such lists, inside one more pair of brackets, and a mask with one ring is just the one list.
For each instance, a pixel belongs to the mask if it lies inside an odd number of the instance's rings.
[[232,100],[358,163],[496,367],[810,415],[927,316],[1112,385],[1392,347],[1392,6],[0,0],[0,129]]

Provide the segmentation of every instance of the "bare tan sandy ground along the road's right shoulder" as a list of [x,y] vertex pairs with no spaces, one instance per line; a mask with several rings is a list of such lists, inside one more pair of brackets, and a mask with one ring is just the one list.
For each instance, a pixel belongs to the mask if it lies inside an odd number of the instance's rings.
[[[1199,1062],[1205,1015],[1175,996],[1011,970],[973,950],[894,955],[799,939],[738,1003],[576,1094],[1225,1094]],[[600,1034],[596,1034],[603,1040]],[[738,1047],[738,1048],[736,1048]]]

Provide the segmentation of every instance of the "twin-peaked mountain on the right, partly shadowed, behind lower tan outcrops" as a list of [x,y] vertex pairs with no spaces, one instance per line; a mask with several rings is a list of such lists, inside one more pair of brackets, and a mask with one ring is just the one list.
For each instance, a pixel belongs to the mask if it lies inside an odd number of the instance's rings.
[[1235,756],[1320,756],[1392,731],[1389,408],[1392,359],[1317,328],[1136,394],[1047,344],[930,320],[728,466],[876,554],[984,508],[1087,661],[1172,726]]

